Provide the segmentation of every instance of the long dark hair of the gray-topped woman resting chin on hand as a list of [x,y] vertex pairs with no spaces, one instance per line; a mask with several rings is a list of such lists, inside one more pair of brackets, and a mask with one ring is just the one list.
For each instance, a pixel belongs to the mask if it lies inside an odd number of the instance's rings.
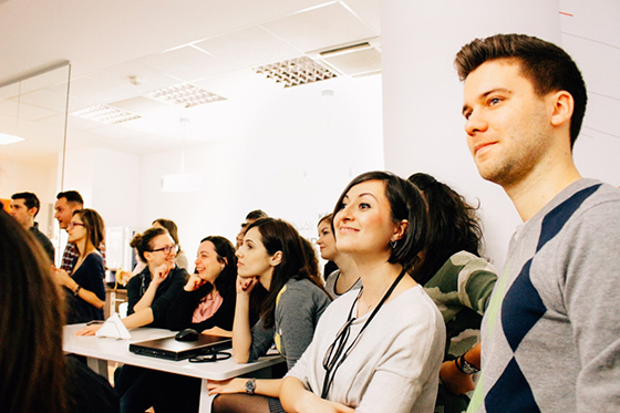
[[282,260],[273,268],[269,291],[258,303],[260,318],[265,320],[265,327],[269,328],[275,323],[276,298],[288,280],[307,278],[321,289],[323,286],[318,273],[314,248],[307,248],[304,240],[292,225],[281,219],[260,218],[248,225],[246,234],[251,228],[257,228],[260,233],[267,254],[272,256],[278,251],[282,252]]

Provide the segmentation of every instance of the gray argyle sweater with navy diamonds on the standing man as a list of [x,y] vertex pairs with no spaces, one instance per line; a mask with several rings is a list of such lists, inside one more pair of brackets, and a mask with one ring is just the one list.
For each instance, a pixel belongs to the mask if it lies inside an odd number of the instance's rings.
[[619,302],[620,190],[581,179],[513,237],[468,411],[618,412]]

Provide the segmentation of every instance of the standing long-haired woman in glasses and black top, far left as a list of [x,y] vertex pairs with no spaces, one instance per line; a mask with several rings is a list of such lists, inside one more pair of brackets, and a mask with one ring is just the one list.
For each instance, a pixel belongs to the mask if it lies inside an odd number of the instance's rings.
[[66,231],[80,254],[71,276],[63,269],[54,271],[56,283],[65,287],[66,323],[103,320],[105,266],[95,248],[104,240],[103,219],[94,209],[80,209],[73,213]]

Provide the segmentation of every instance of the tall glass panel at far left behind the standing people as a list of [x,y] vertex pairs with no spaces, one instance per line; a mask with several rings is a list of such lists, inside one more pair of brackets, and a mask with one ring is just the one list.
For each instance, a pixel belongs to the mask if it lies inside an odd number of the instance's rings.
[[69,62],[0,85],[0,198],[37,194],[39,229],[55,247],[53,206],[63,187]]

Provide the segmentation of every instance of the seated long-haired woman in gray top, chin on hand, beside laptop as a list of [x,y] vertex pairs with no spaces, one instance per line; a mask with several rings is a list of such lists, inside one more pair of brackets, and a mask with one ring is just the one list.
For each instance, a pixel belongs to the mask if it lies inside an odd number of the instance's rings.
[[[248,226],[237,259],[232,355],[238,363],[250,362],[276,343],[291,369],[331,301],[321,285],[313,249],[307,248],[307,241],[290,224],[261,218]],[[255,299],[260,290],[267,292]],[[250,306],[258,306],[260,314],[254,327]],[[276,399],[279,388],[280,380],[209,381],[210,392],[220,394],[214,400],[213,411],[282,412]]]

